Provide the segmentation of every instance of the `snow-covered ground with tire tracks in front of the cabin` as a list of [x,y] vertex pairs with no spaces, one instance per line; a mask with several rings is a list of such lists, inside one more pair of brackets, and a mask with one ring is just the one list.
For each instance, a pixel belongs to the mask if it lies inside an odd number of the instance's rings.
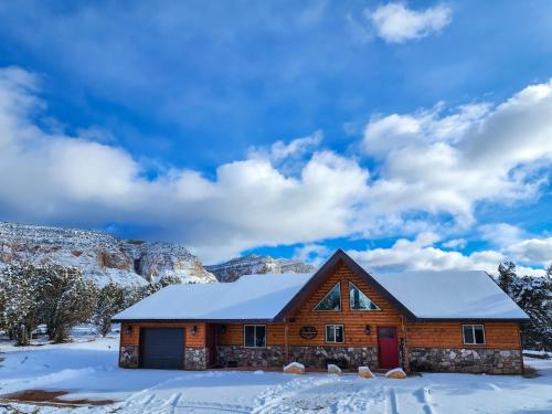
[[[0,341],[0,393],[67,391],[67,401],[115,401],[76,410],[40,406],[40,413],[552,413],[552,360],[526,359],[541,374],[533,379],[423,374],[363,380],[354,374],[123,370],[117,338],[77,341],[30,348]],[[24,413],[35,408],[14,406]]]

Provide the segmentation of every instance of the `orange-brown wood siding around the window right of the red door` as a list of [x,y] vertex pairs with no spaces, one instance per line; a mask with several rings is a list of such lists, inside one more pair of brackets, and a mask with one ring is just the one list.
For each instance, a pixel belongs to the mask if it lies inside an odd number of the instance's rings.
[[464,344],[463,325],[471,322],[413,322],[406,325],[410,348],[489,348],[521,349],[519,323],[481,322],[485,326],[485,344]]

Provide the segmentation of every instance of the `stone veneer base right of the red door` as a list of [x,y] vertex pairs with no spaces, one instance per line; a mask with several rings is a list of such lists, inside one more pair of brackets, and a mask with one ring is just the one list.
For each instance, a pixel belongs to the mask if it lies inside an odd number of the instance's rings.
[[520,350],[412,348],[410,357],[412,371],[520,374],[523,370]]

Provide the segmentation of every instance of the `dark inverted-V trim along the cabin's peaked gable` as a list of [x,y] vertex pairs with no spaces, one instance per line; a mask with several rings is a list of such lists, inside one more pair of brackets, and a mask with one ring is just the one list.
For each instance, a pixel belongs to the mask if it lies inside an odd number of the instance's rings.
[[357,262],[354,262],[341,248],[336,251],[331,257],[316,272],[312,277],[302,286],[302,288],[287,302],[287,305],[276,315],[275,321],[283,321],[315,294],[323,284],[326,277],[337,269],[340,264],[348,266],[357,276],[359,276],[367,285],[371,286],[379,295],[390,302],[400,314],[407,320],[417,320],[416,316],[408,310],[401,301],[399,301],[391,293],[385,289],[378,280],[375,280],[367,270],[364,270]]

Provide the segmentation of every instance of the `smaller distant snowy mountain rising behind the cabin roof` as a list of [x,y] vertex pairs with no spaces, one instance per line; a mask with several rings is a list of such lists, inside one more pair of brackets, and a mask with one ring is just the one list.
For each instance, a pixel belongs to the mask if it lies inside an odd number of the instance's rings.
[[243,275],[265,273],[312,273],[316,267],[293,258],[248,255],[236,257],[220,265],[205,266],[219,282],[234,282]]

